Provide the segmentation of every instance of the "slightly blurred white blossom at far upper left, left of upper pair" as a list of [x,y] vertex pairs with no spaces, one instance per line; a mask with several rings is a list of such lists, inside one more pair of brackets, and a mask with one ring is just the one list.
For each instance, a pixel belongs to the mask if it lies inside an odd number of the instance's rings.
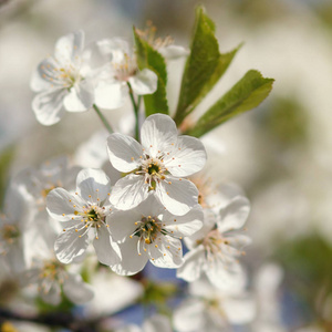
[[32,101],[37,120],[43,125],[58,123],[69,112],[83,112],[94,103],[94,86],[84,52],[84,33],[77,31],[60,38],[54,56],[43,60],[31,80],[38,92]]

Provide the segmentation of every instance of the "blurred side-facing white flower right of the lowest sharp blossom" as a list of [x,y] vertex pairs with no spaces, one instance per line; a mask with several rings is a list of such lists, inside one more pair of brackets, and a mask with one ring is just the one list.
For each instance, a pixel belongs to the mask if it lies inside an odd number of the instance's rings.
[[177,277],[190,282],[205,273],[220,289],[232,283],[243,284],[246,278],[238,257],[243,253],[242,247],[250,243],[250,238],[232,230],[243,226],[249,209],[248,199],[237,196],[220,209],[218,216],[206,210],[203,228],[185,239],[190,250],[185,255]]

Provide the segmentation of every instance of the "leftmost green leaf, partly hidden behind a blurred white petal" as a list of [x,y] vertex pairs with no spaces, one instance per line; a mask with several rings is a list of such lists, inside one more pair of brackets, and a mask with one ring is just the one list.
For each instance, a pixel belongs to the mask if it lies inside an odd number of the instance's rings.
[[154,113],[168,114],[168,103],[166,96],[167,71],[165,59],[137,33],[135,28],[134,38],[138,69],[143,70],[147,68],[154,71],[158,76],[157,91],[153,94],[144,95],[145,114],[146,116]]

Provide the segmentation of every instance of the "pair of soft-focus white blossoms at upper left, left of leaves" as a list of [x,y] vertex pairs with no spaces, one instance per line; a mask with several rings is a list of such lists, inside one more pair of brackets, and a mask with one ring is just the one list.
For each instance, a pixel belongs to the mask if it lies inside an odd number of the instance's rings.
[[[180,46],[169,58],[187,54]],[[165,50],[165,48],[163,49]],[[136,95],[152,94],[158,77],[149,69],[138,70],[136,56],[123,39],[105,39],[85,45],[84,32],[60,38],[54,55],[43,60],[31,80],[38,94],[32,108],[43,125],[58,123],[64,111],[84,112],[93,105],[113,110],[123,105],[128,91]]]

